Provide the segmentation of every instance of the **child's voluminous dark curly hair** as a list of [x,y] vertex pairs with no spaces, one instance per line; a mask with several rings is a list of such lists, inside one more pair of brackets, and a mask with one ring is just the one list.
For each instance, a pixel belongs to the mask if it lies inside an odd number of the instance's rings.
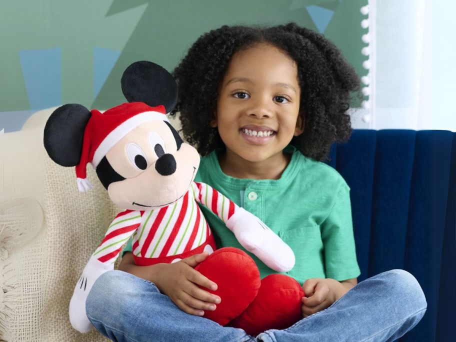
[[295,23],[286,25],[222,26],[201,35],[174,69],[184,138],[201,155],[224,147],[217,128],[210,127],[219,83],[232,55],[258,43],[277,47],[297,65],[299,115],[304,131],[292,139],[302,154],[324,160],[333,142],[351,133],[350,91],[359,90],[359,78],[340,50],[322,34]]

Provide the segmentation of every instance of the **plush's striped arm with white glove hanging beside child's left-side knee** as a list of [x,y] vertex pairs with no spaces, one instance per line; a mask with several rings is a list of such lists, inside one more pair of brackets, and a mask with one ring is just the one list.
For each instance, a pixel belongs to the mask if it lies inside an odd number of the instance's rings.
[[93,283],[98,277],[114,268],[122,245],[134,233],[141,223],[139,211],[125,210],[117,214],[96,248],[74,286],[69,302],[69,320],[73,328],[80,332],[91,329],[91,323],[85,314],[85,300]]

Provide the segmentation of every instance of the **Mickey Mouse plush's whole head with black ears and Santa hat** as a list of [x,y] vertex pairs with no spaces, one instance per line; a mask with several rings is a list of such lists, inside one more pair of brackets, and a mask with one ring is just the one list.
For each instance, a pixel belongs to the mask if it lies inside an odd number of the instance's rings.
[[79,104],[57,108],[44,128],[44,147],[62,166],[76,166],[80,191],[91,185],[91,163],[118,206],[146,210],[168,205],[187,191],[199,166],[199,155],[184,143],[166,112],[177,102],[177,85],[161,66],[131,64],[121,78],[127,103],[103,113]]

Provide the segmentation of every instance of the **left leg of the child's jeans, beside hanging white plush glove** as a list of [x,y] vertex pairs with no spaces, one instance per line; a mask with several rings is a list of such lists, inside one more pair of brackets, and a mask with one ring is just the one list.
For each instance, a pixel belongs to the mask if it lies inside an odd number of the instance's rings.
[[254,341],[242,329],[183,312],[150,281],[119,270],[95,281],[85,309],[95,328],[114,341]]

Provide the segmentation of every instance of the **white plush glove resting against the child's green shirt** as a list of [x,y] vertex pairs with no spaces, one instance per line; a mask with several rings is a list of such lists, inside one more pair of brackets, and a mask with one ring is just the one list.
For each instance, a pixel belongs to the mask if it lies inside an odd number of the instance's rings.
[[266,224],[244,208],[239,208],[226,222],[239,243],[255,254],[266,266],[287,272],[294,266],[294,253]]

